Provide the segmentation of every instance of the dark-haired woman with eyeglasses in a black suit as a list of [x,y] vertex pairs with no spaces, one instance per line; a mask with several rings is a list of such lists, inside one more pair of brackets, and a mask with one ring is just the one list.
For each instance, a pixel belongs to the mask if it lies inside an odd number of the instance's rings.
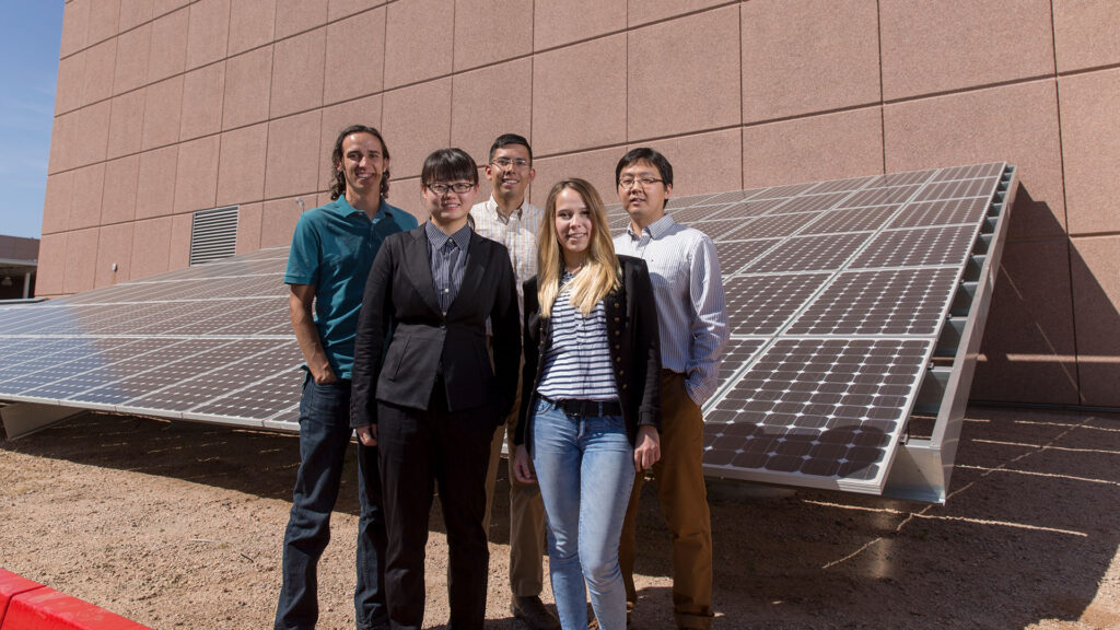
[[450,547],[450,626],[480,629],[486,613],[486,467],[491,437],[516,393],[521,336],[510,254],[467,225],[477,194],[469,155],[428,156],[420,196],[429,221],[382,244],[358,318],[351,424],[380,450],[394,628],[423,622],[436,484]]

